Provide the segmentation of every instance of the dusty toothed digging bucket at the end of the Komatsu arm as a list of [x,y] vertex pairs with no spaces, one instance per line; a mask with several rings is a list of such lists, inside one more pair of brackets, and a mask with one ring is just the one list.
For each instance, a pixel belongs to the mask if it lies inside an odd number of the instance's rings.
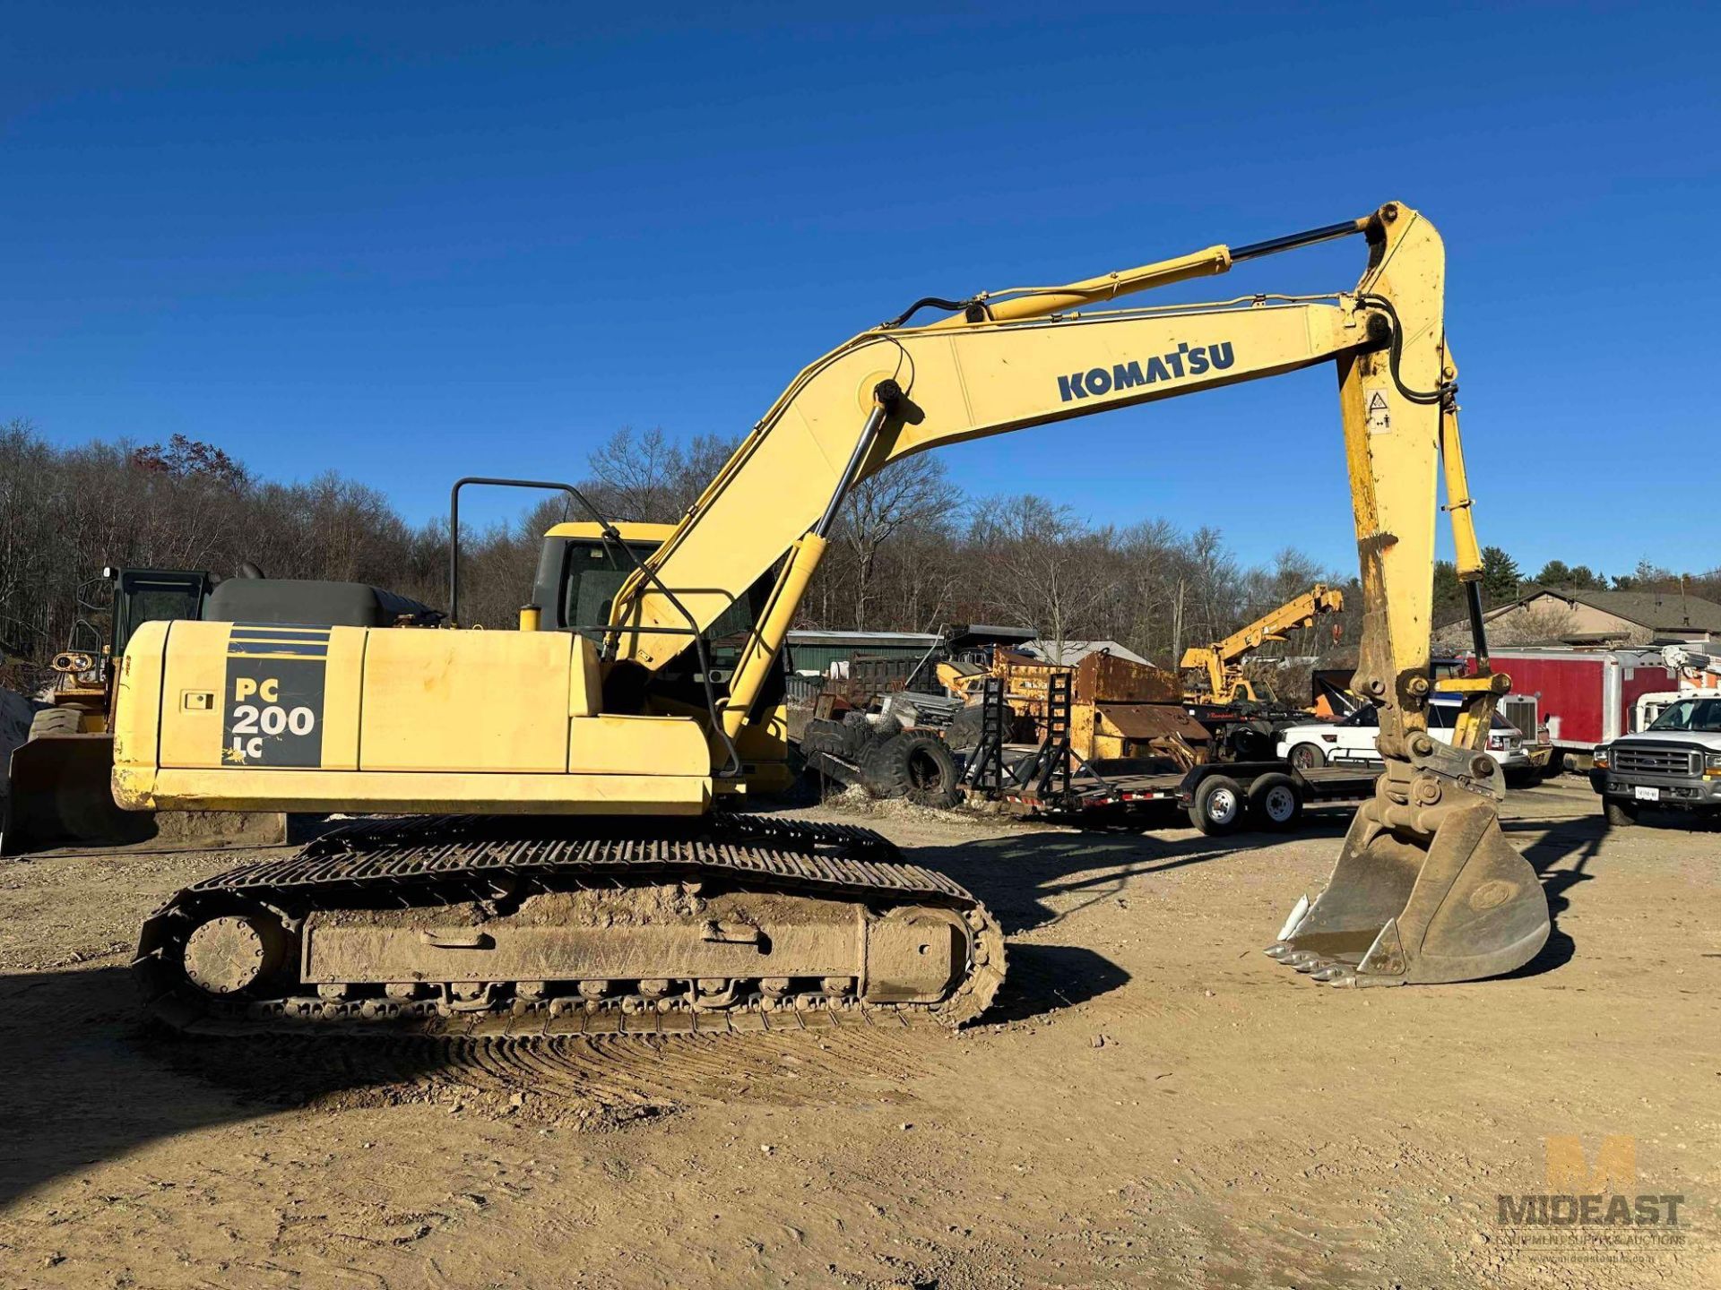
[[1334,986],[1480,980],[1535,958],[1547,896],[1494,803],[1442,807],[1432,836],[1413,827],[1432,814],[1363,803],[1325,889],[1298,901],[1267,953]]

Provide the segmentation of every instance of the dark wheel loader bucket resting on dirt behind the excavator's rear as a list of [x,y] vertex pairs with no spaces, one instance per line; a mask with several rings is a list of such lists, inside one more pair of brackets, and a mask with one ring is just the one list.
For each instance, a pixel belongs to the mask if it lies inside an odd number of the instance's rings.
[[38,734],[12,752],[10,791],[0,819],[0,855],[52,846],[158,843],[177,851],[275,846],[287,839],[279,812],[153,815],[114,805],[114,736]]

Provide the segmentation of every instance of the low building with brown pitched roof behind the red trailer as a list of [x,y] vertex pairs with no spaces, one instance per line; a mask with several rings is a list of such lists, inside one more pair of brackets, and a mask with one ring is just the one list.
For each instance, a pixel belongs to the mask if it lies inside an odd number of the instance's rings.
[[[1573,592],[1533,587],[1482,616],[1499,645],[1649,645],[1721,636],[1721,605],[1680,592]],[[1435,640],[1468,642],[1468,621],[1439,628]]]

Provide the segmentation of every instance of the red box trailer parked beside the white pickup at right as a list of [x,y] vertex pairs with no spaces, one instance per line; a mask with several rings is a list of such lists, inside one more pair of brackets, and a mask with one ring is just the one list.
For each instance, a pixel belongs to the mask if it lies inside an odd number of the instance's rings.
[[[1499,648],[1489,657],[1494,671],[1511,676],[1501,714],[1532,738],[1545,726],[1556,767],[1568,771],[1588,771],[1597,743],[1637,733],[1638,698],[1680,688],[1661,650],[1650,648]],[[1475,671],[1473,660],[1466,671]]]

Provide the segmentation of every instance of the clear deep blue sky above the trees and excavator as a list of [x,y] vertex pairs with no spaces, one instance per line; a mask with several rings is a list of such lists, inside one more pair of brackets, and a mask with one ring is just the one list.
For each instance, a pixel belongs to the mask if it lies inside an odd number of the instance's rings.
[[[1484,542],[1707,568],[1718,12],[12,9],[0,418],[334,466],[425,518],[458,475],[578,476],[620,425],[743,432],[924,294],[1397,198],[1446,236]],[[1184,294],[1349,287],[1360,251]],[[1354,562],[1325,368],[945,456],[976,494]]]

